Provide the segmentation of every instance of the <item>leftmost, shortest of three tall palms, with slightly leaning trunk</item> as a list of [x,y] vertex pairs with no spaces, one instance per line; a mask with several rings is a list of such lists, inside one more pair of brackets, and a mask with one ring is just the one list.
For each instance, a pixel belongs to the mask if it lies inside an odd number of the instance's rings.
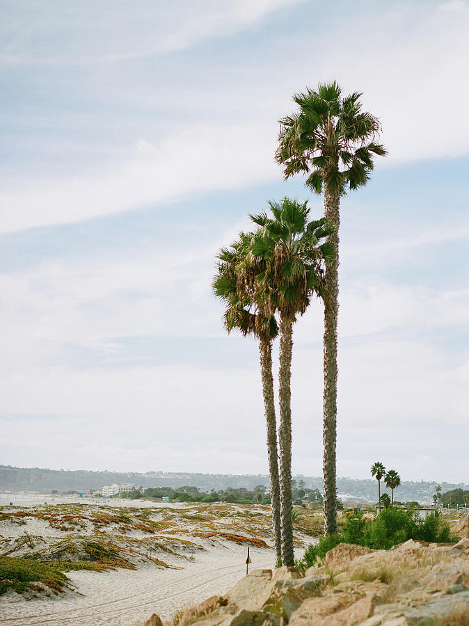
[[[246,268],[246,255],[252,234],[241,232],[230,248],[218,254],[218,268],[212,283],[214,294],[222,298],[226,308],[224,326],[228,332],[237,329],[244,337],[255,335],[259,339],[260,370],[264,415],[267,426],[267,456],[272,511],[272,529],[277,560],[281,558],[280,534],[280,482],[278,478],[277,422],[273,394],[272,342],[278,335],[278,325],[273,315],[264,315],[255,305],[255,294],[248,294],[245,280],[239,280],[240,267]],[[262,267],[257,268],[258,271]]]

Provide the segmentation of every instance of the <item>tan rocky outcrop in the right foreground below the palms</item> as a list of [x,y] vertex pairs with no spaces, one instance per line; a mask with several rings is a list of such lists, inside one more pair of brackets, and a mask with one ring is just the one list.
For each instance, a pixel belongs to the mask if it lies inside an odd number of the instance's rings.
[[[154,616],[156,617],[156,616]],[[469,626],[469,539],[386,550],[340,544],[324,563],[255,570],[177,626]]]

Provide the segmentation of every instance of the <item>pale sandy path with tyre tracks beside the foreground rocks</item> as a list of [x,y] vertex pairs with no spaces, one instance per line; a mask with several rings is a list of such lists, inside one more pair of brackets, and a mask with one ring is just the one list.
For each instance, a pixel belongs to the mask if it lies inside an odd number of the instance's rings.
[[[271,568],[272,550],[253,548],[251,568]],[[152,613],[173,616],[186,604],[226,593],[246,573],[246,548],[213,546],[188,563],[184,570],[157,570],[150,565],[115,572],[70,572],[68,576],[84,596],[22,599],[16,593],[0,597],[0,623],[15,625],[130,626]]]

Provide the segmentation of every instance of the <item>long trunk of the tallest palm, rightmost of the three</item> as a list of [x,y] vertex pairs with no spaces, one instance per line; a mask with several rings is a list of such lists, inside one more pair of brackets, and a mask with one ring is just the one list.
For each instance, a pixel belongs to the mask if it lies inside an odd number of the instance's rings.
[[324,534],[337,531],[337,490],[335,445],[337,440],[337,314],[339,312],[339,194],[326,187],[324,215],[335,226],[331,236],[337,255],[326,264],[324,294],[324,396],[323,396],[323,474],[324,474]]

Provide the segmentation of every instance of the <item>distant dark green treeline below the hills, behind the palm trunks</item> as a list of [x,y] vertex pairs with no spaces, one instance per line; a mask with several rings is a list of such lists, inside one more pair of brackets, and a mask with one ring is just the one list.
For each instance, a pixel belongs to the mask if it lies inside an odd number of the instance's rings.
[[[321,492],[318,489],[308,489],[295,485],[293,498],[296,504],[302,504],[307,499],[312,504],[322,504]],[[270,496],[264,485],[256,485],[249,490],[245,487],[228,487],[226,489],[200,491],[198,487],[183,485],[180,488],[172,487],[149,487],[146,489],[133,488],[129,492],[121,493],[116,497],[129,497],[133,499],[150,499],[168,497],[175,502],[230,502],[237,504],[270,504]]]

